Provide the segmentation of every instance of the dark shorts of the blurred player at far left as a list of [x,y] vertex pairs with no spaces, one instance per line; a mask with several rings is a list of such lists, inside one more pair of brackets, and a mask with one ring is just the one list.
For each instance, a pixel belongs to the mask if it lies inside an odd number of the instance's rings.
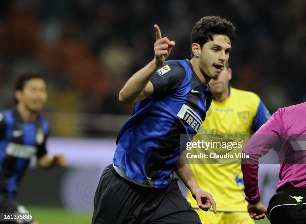
[[[0,192],[0,214],[29,214],[26,208],[21,205],[18,201],[9,199],[4,193]],[[3,215],[4,216],[4,215]],[[1,219],[3,218],[1,216]],[[8,224],[30,224],[33,223],[32,220],[18,220],[18,221],[0,221],[0,223],[8,223]]]

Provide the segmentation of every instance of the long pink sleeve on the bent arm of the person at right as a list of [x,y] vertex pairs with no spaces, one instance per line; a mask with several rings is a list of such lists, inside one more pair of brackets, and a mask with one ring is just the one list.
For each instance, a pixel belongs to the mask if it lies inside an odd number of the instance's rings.
[[249,155],[249,159],[242,159],[241,169],[245,185],[245,199],[250,203],[256,203],[260,200],[258,159],[281,141],[280,135],[283,134],[282,113],[282,109],[277,110],[249,139],[243,149],[243,153]]

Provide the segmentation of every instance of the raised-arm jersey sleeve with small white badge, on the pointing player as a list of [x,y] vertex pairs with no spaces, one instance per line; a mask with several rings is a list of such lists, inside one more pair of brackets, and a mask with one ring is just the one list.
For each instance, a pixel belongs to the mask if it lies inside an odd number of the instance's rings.
[[175,91],[183,82],[185,75],[185,69],[178,62],[166,62],[150,80],[154,86],[153,95],[168,95]]

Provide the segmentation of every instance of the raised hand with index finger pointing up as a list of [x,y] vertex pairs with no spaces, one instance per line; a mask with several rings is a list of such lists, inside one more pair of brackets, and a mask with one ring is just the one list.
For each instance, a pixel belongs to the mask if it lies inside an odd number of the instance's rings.
[[159,26],[154,25],[154,27],[156,31],[156,42],[154,44],[154,60],[157,66],[160,67],[170,55],[172,48],[175,46],[175,42],[170,41],[167,37],[161,37],[161,31]]

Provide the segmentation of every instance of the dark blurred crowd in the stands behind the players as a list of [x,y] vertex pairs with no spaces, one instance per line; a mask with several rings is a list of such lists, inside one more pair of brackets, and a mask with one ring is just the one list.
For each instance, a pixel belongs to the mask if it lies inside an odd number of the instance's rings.
[[35,71],[48,81],[46,111],[130,114],[117,95],[153,58],[153,25],[176,42],[169,59],[185,59],[206,15],[237,27],[232,86],[256,92],[271,112],[306,101],[303,0],[2,0],[0,108],[13,105],[16,77]]

